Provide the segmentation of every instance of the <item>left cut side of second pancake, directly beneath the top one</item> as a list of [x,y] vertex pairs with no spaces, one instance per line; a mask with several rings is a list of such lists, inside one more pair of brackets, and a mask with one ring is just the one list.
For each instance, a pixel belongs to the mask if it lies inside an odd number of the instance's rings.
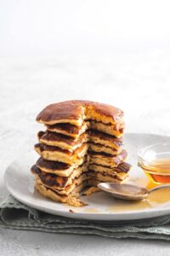
[[55,124],[55,125],[46,125],[48,131],[54,131],[59,134],[63,134],[69,137],[77,138],[83,132],[88,130],[89,122],[82,122],[82,126],[71,125],[71,124]]

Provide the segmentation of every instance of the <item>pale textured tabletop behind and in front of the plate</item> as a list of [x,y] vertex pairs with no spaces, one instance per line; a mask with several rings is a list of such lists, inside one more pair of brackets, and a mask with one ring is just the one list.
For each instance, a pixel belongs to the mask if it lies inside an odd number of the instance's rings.
[[[170,53],[0,58],[0,197],[8,164],[32,150],[36,114],[65,99],[125,110],[127,131],[170,134]],[[169,255],[168,242],[0,230],[0,255]]]

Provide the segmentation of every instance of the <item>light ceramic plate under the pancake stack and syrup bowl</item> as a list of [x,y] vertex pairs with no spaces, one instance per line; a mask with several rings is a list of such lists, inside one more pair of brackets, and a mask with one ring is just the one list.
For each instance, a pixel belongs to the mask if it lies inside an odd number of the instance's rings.
[[[141,177],[141,184],[148,183],[144,173],[137,166],[137,151],[139,148],[151,143],[170,142],[169,137],[161,137],[151,134],[131,133],[124,138],[125,146],[128,152],[128,162],[133,165],[130,171],[131,183]],[[71,207],[65,204],[50,201],[39,195],[33,189],[33,177],[30,167],[36,162],[38,156],[31,152],[26,156],[20,156],[19,160],[15,160],[8,166],[5,172],[5,183],[8,191],[18,201],[29,207],[34,207],[43,212],[53,213],[69,218],[84,218],[91,220],[113,221],[113,220],[129,220],[139,218],[154,218],[170,213],[170,201],[156,207],[135,210],[119,207],[120,211],[114,210],[120,206],[120,201],[114,200],[110,195],[104,192],[98,192],[94,195],[83,196],[82,200],[88,203],[87,207]],[[70,212],[72,210],[73,212]]]

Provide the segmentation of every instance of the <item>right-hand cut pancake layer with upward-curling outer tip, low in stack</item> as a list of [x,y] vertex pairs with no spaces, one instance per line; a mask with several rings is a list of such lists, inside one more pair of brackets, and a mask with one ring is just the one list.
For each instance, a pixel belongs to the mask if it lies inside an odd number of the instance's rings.
[[124,149],[122,150],[121,154],[118,155],[96,153],[94,151],[89,151],[88,154],[90,154],[89,164],[96,164],[99,166],[116,167],[127,158],[127,151]]

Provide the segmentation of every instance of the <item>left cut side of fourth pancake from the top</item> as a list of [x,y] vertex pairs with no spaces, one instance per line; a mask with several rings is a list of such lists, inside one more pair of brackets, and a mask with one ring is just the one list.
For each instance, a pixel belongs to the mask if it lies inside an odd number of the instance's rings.
[[37,143],[34,148],[37,154],[40,154],[45,160],[60,161],[71,165],[80,164],[82,162],[82,158],[87,154],[88,144],[83,143],[80,148],[77,148],[73,152],[42,143]]

